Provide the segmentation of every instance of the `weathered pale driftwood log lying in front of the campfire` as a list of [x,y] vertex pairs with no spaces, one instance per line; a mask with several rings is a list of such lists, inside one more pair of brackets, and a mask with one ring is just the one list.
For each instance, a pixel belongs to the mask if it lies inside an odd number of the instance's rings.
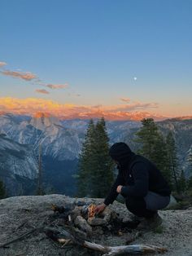
[[[76,236],[76,232],[71,228],[71,231],[60,230],[53,228],[46,229],[46,236],[49,236],[54,241],[65,244],[70,240],[73,244],[81,245],[82,247],[93,249],[103,253],[103,256],[114,256],[118,254],[149,254],[149,253],[164,253],[167,249],[154,245],[121,245],[121,246],[104,246],[84,241],[80,236]],[[69,241],[68,241],[69,242]]]

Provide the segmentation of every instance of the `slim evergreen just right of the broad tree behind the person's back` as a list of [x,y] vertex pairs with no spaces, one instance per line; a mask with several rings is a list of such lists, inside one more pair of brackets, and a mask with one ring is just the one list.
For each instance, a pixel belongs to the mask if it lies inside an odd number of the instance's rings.
[[168,168],[171,171],[170,183],[172,183],[172,188],[174,190],[180,192],[178,180],[179,177],[181,176],[181,182],[184,182],[184,176],[182,176],[184,174],[179,173],[178,170],[177,147],[171,131],[167,135],[166,142],[168,151]]

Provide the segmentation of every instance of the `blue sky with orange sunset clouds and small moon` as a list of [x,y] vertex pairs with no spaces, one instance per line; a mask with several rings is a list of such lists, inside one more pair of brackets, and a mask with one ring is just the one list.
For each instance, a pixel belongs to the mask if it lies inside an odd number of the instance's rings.
[[191,0],[1,0],[0,112],[192,115]]

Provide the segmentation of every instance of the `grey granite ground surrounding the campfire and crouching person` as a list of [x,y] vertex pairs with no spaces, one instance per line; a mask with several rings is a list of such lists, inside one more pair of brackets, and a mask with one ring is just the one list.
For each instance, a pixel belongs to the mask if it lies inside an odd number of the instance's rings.
[[[101,199],[83,198],[78,201],[99,203]],[[46,225],[46,220],[54,213],[51,204],[63,205],[73,204],[74,198],[63,195],[46,196],[18,196],[10,197],[0,201],[0,241],[1,245],[7,241],[17,238],[33,229]],[[110,206],[116,210],[122,218],[128,217],[129,212],[125,206],[114,202]],[[159,245],[168,248],[165,256],[191,256],[192,255],[192,210],[166,210],[159,211],[163,218],[163,228],[156,232],[146,232],[139,236],[132,244]],[[102,236],[101,245],[125,245],[130,233],[121,236]],[[96,241],[98,242],[98,241]],[[33,232],[20,241],[15,241],[7,248],[0,249],[2,256],[54,256],[54,255],[96,255],[88,249],[75,246],[67,250],[61,248],[53,241],[47,239],[44,232]],[[97,254],[99,255],[99,254]]]

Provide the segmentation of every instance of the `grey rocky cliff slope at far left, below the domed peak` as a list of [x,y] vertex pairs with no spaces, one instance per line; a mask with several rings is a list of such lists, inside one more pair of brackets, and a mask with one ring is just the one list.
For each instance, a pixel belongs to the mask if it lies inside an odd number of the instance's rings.
[[27,184],[30,190],[37,172],[33,148],[0,135],[0,179],[5,183],[8,195],[22,194]]

